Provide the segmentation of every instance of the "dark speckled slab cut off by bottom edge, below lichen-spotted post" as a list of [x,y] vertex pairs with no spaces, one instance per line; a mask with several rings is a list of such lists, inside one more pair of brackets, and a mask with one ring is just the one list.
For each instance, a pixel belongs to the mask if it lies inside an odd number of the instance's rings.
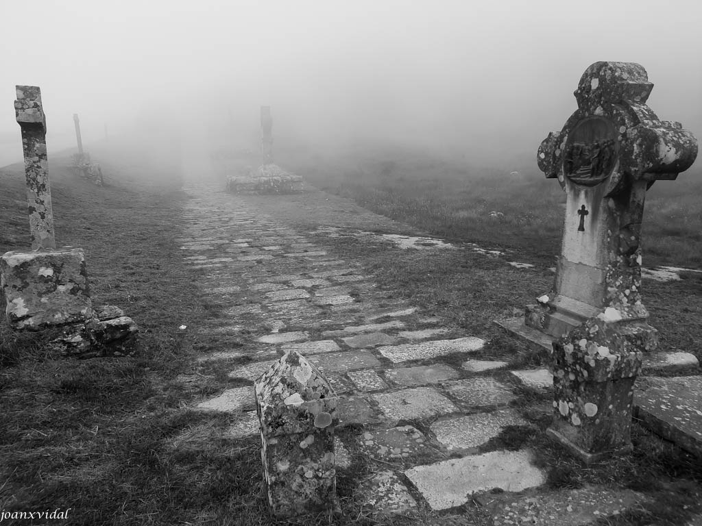
[[545,494],[512,497],[491,506],[494,526],[586,526],[649,501],[632,490],[587,486],[579,490],[559,490]]

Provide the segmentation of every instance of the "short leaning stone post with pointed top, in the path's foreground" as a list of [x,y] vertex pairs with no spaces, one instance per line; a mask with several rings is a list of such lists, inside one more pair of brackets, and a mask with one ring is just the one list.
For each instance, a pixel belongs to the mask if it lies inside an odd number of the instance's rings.
[[285,355],[255,384],[261,459],[273,515],[334,511],[338,398],[302,355]]

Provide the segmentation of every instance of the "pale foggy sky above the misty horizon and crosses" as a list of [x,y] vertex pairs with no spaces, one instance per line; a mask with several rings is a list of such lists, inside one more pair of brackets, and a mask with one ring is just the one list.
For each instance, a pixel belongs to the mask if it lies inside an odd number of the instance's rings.
[[41,87],[50,154],[74,145],[74,113],[89,146],[105,125],[246,137],[270,104],[277,142],[388,141],[518,163],[574,112],[585,68],[618,60],[647,69],[661,119],[702,137],[701,5],[3,0],[0,166],[21,159],[15,84]]

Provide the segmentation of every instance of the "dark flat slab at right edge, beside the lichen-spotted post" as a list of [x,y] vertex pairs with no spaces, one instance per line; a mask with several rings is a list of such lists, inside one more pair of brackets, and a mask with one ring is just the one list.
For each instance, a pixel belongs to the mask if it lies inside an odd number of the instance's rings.
[[634,417],[643,426],[702,458],[702,377],[639,377]]

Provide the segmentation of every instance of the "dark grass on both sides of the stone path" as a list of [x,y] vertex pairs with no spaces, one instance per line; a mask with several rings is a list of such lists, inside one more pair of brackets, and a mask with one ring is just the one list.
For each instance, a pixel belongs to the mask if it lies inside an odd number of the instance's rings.
[[[306,172],[301,164],[294,168],[330,192],[431,234],[510,248],[543,267],[552,264],[562,219],[557,182],[523,176],[505,184],[505,176],[495,174],[469,180],[465,170],[435,161],[379,159],[318,163]],[[193,400],[238,381],[214,364],[195,369],[194,357],[221,349],[221,337],[178,330],[181,324],[216,321],[225,308],[197,288],[200,271],[181,259],[175,240],[183,228],[180,208],[187,196],[180,191],[179,175],[146,157],[110,160],[105,154],[100,162],[108,183],[104,188],[74,177],[65,167],[67,159],[52,159],[57,241],[86,250],[93,301],[121,306],[138,322],[141,353],[124,360],[55,360],[42,345],[51,335],[18,335],[0,325],[0,511],[72,508],[71,519],[62,524],[86,526],[272,524],[262,494],[258,438],[226,440],[222,433],[234,417],[187,410]],[[0,183],[1,253],[26,246],[27,224],[21,168],[0,170]],[[698,183],[680,184],[688,185],[691,194]],[[669,228],[650,237],[671,240],[657,262],[701,266],[701,252],[693,253],[700,241],[700,230],[695,231],[699,206],[691,196],[652,194],[654,216],[647,216],[647,222],[665,218]],[[503,217],[490,219],[493,210]],[[268,211],[276,213],[274,205]],[[675,252],[687,245],[689,252]],[[500,335],[491,320],[543,292],[552,280],[548,271],[525,274],[477,255],[397,257],[397,252],[360,242],[330,245],[329,250],[360,262],[388,290],[390,301],[411,299],[444,317],[456,335],[489,337],[486,356],[541,363]],[[697,347],[702,281],[693,276],[680,283],[647,282],[644,297],[663,346],[702,358]],[[244,335],[227,346],[246,342]],[[200,381],[176,382],[178,375],[193,371],[202,375]],[[518,405],[527,413],[531,404],[548,402],[528,389],[521,394]],[[490,447],[534,447],[550,467],[552,488],[611,483],[651,495],[644,510],[603,526],[675,525],[698,511],[702,468],[674,445],[634,426],[634,454],[588,467],[543,437],[549,417],[529,414],[530,433],[506,434]],[[485,524],[484,512],[468,505],[449,513],[422,511],[415,518],[378,521],[353,492],[355,477],[373,469],[369,464],[338,477],[343,515],[334,524]],[[327,523],[324,516],[279,522]]]

